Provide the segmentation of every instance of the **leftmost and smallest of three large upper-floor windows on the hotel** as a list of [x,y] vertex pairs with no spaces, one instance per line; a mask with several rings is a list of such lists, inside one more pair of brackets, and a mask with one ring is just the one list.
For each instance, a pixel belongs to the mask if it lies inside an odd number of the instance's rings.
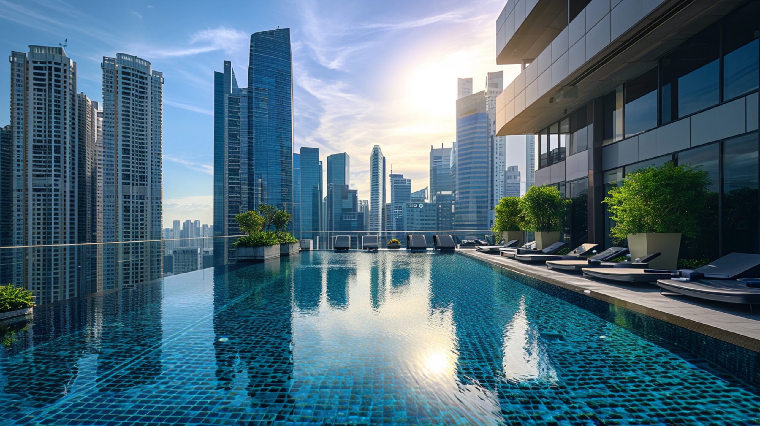
[[657,127],[657,67],[625,84],[625,137]]

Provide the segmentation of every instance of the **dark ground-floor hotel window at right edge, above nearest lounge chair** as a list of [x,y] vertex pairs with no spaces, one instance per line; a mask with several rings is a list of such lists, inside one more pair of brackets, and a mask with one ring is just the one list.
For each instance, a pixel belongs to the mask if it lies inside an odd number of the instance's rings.
[[723,162],[723,254],[758,253],[758,134],[726,140]]

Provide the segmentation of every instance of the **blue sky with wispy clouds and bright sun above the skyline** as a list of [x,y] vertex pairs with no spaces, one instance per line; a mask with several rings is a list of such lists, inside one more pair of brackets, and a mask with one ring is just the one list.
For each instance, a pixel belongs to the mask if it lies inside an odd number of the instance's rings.
[[[214,71],[233,62],[245,84],[251,33],[290,27],[295,150],[351,156],[351,186],[369,198],[369,153],[428,184],[431,145],[455,139],[456,78],[475,90],[496,65],[505,0],[386,2],[102,2],[0,0],[0,51],[58,46],[78,64],[78,90],[100,100],[103,56],[138,55],[164,76],[164,223],[211,223]],[[0,67],[0,125],[9,118],[9,65]],[[2,83],[5,82],[5,83]],[[522,169],[522,168],[521,168]]]

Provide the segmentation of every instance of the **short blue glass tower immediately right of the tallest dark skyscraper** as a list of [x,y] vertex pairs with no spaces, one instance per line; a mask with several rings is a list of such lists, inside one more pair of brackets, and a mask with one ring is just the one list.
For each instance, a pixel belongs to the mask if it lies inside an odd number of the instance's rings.
[[319,148],[301,147],[299,156],[301,164],[301,194],[299,197],[301,202],[301,234],[296,235],[296,237],[315,239],[315,232],[319,232],[321,229],[322,162],[319,161]]

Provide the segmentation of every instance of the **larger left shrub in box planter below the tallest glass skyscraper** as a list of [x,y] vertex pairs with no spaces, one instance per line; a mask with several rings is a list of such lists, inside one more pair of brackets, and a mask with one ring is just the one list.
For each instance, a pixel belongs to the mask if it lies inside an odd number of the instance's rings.
[[233,242],[237,260],[270,260],[280,257],[280,239],[274,232],[262,231],[264,217],[255,211],[239,213],[235,216],[240,230],[245,232]]

